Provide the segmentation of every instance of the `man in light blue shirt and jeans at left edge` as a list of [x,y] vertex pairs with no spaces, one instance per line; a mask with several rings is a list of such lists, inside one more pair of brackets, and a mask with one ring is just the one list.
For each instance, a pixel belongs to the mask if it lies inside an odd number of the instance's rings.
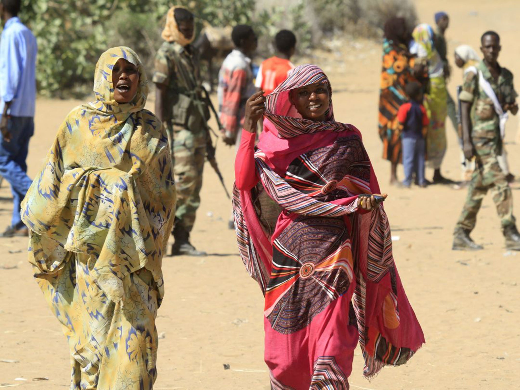
[[0,0],[0,175],[11,185],[11,225],[2,237],[27,236],[20,202],[31,186],[27,176],[29,139],[34,133],[36,38],[18,19],[21,0]]

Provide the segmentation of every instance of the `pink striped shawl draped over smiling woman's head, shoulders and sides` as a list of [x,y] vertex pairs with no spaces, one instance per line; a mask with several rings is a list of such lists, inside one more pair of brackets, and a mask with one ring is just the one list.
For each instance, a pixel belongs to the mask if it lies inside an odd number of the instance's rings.
[[[250,190],[233,190],[233,212],[237,240],[242,261],[249,274],[266,294],[271,278],[273,240],[280,235],[291,218],[300,216],[351,217],[352,242],[355,247],[356,289],[353,298],[359,332],[359,343],[365,358],[364,374],[368,378],[385,365],[404,364],[424,343],[424,335],[402,287],[392,256],[392,239],[383,205],[370,213],[357,211],[357,194],[379,193],[378,181],[362,146],[361,134],[354,126],[334,121],[332,100],[326,121],[303,119],[292,105],[289,94],[292,89],[305,85],[327,84],[332,99],[330,82],[317,66],[307,64],[293,70],[288,79],[267,97],[264,132],[259,138],[255,153],[256,174],[268,196],[285,215],[280,216],[274,233],[267,236],[255,211]],[[353,139],[359,145],[355,161],[359,166],[369,166],[369,179],[356,177],[343,180],[341,185],[348,197],[331,202],[319,201],[312,194],[304,193],[291,185],[286,174],[291,164],[300,159],[308,164],[308,152],[327,149],[329,159],[335,156],[334,143],[340,138]],[[319,172],[319,166],[313,170]],[[314,171],[313,171],[314,172]],[[346,178],[351,176],[345,176]],[[332,183],[307,183],[323,193]],[[338,184],[339,185],[339,184]]]

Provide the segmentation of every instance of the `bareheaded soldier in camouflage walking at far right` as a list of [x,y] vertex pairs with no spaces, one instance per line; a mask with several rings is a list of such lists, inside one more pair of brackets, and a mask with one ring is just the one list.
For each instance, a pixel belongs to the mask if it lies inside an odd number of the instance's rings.
[[520,234],[513,216],[513,197],[506,177],[500,169],[497,156],[501,153],[502,137],[499,116],[495,112],[492,99],[486,94],[479,77],[483,77],[492,87],[504,112],[515,115],[518,105],[513,87],[513,74],[500,67],[497,62],[500,52],[500,37],[488,31],[481,39],[484,60],[476,66],[476,72],[468,71],[459,99],[462,101],[462,133],[464,155],[468,160],[476,159],[475,172],[471,178],[466,202],[457,222],[454,250],[479,250],[471,238],[476,217],[488,190],[493,194],[493,202],[501,219],[506,248],[520,250]]

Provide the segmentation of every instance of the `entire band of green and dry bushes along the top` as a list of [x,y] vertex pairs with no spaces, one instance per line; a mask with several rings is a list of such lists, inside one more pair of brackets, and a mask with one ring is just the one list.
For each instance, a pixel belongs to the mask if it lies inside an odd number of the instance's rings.
[[[38,92],[59,97],[89,93],[100,54],[118,45],[135,49],[150,74],[172,1],[22,0],[20,19],[38,42]],[[362,35],[374,36],[391,14],[412,23],[416,19],[410,0],[280,0],[259,11],[255,11],[261,4],[257,0],[176,0],[174,4],[196,15],[199,32],[203,22],[215,27],[252,24],[261,38],[260,50],[266,53],[280,28],[293,30],[298,49],[306,51],[322,33],[365,29]]]

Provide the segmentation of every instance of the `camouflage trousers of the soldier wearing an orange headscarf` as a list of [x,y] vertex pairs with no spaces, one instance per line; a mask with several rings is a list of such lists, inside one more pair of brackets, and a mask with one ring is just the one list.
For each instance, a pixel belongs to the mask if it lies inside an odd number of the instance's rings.
[[190,232],[200,205],[206,133],[202,130],[194,133],[182,126],[173,125],[167,128],[167,134],[177,191],[175,224],[182,224]]

